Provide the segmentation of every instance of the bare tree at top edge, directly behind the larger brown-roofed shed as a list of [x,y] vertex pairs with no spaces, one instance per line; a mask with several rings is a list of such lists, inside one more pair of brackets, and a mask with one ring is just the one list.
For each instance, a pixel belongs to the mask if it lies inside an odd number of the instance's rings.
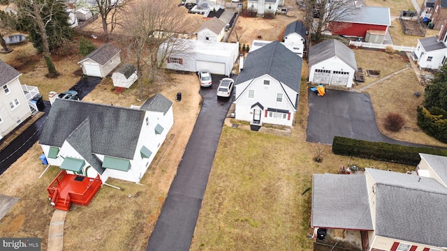
[[[96,6],[93,8],[101,16],[105,43],[109,42],[109,35],[117,25],[121,25],[119,20],[124,14],[129,0],[95,0]],[[109,26],[110,25],[110,26]],[[110,28],[110,31],[109,31]]]

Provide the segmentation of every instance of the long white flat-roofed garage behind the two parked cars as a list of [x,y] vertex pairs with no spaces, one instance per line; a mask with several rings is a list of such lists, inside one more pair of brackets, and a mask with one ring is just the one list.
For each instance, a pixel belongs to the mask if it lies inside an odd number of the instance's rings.
[[[184,47],[188,49],[180,49]],[[175,45],[161,45],[158,54],[159,60],[166,58],[164,67],[167,69],[189,72],[209,70],[217,75],[230,75],[239,56],[239,44],[179,39]],[[166,54],[169,56],[163,56]]]

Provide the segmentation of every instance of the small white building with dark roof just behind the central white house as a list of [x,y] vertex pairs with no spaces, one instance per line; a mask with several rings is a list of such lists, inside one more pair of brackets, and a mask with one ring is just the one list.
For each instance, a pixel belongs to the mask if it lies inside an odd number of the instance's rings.
[[293,52],[302,57],[305,50],[306,33],[306,26],[301,21],[291,22],[284,31],[284,44],[291,45]]

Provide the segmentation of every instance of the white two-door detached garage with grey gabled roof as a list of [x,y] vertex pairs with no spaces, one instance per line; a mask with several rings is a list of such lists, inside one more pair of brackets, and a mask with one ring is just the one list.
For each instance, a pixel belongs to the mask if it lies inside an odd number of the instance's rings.
[[326,40],[309,50],[309,82],[351,87],[357,70],[354,52],[338,40]]

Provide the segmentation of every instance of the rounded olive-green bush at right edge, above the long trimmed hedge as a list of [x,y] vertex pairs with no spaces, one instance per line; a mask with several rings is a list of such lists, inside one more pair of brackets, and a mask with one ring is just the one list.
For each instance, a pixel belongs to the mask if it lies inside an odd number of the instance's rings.
[[427,110],[425,107],[418,107],[418,126],[427,135],[447,143],[447,112],[438,107]]

